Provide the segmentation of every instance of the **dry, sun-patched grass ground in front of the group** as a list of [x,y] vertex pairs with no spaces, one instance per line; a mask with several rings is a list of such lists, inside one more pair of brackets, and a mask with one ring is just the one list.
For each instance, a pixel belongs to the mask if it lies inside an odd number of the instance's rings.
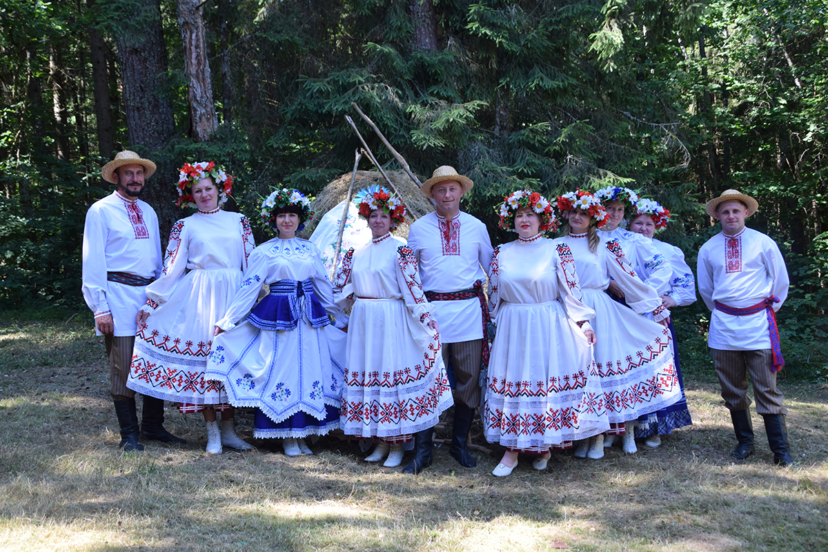
[[0,322],[0,550],[828,550],[826,388],[783,384],[798,468],[773,468],[756,415],[758,454],[732,462],[715,383],[690,377],[696,423],[661,448],[522,458],[505,479],[445,449],[404,476],[334,438],[209,456],[173,408],[190,444],[123,454],[87,324]]

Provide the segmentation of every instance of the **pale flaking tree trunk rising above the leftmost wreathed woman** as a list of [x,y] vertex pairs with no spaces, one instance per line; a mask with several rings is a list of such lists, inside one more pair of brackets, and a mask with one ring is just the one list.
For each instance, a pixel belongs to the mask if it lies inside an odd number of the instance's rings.
[[197,142],[208,142],[219,127],[207,60],[205,22],[201,17],[203,6],[201,0],[178,0],[178,26],[184,42],[184,69],[189,79],[190,117]]

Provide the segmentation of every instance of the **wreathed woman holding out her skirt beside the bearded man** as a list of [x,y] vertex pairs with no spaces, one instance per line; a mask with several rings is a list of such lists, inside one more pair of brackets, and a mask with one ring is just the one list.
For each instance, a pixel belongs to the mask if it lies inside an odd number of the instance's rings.
[[210,454],[221,454],[222,444],[253,448],[233,429],[224,388],[205,377],[213,324],[227,311],[255,247],[248,218],[221,209],[232,190],[233,176],[213,161],[181,168],[178,205],[198,212],[173,225],[164,271],[147,286],[127,382],[143,395],[182,403],[181,412],[202,412]]

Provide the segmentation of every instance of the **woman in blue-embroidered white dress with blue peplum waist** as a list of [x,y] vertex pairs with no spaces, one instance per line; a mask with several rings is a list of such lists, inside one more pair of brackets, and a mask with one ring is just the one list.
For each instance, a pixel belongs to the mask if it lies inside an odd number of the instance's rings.
[[[310,199],[275,190],[261,215],[278,237],[250,256],[233,304],[215,323],[207,374],[224,383],[233,406],[258,409],[254,437],[283,439],[288,456],[313,454],[305,438],[339,426],[343,368],[329,346],[339,330],[327,326],[342,328],[348,316],[334,303],[319,250],[296,238],[313,216]],[[262,284],[270,293],[257,304]]]

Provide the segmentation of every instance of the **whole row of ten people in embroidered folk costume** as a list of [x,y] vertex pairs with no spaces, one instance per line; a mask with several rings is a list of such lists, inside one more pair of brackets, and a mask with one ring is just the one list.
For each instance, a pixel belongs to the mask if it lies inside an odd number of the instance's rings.
[[[441,166],[421,189],[436,212],[412,223],[407,242],[392,235],[406,216],[400,198],[379,186],[357,194],[372,239],[344,255],[331,283],[317,247],[296,238],[310,200],[274,190],[260,216],[277,237],[256,247],[248,219],[222,209],[233,177],[214,162],[182,167],[179,204],[197,213],[173,225],[162,264],[156,214],[137,199],[155,169],[118,153],[102,171],[117,189],[84,227],[84,299],[105,336],[124,450],[185,442],[163,427],[165,400],[204,415],[211,454],[252,448],[233,415],[251,407],[253,436],[282,439],[289,456],[340,428],[377,439],[365,460],[387,467],[413,446],[403,473],[431,464],[433,428],[452,406],[451,456],[476,465],[479,409],[485,438],[505,448],[501,477],[520,453],[543,470],[551,449],[575,443],[576,457],[602,458],[623,435],[634,453],[635,437],[657,447],[691,424],[670,309],[695,300],[694,278],[679,249],[653,238],[670,214],[652,199],[607,188],[552,204],[517,190],[496,207],[517,239],[492,247],[484,223],[460,211],[474,183]],[[744,226],[756,209],[735,190],[707,204],[722,232],[700,250],[699,289],[732,455],[753,452],[749,372],[774,463],[787,465],[775,312],[788,280],[773,240]]]

